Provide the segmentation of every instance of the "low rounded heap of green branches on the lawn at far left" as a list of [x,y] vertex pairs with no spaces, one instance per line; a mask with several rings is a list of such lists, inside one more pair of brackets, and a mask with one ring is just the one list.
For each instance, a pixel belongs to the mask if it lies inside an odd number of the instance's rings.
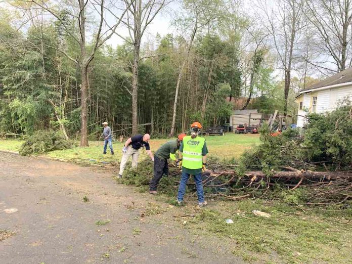
[[20,154],[27,156],[30,154],[42,154],[53,150],[64,150],[72,147],[61,131],[38,130],[30,136],[21,146]]

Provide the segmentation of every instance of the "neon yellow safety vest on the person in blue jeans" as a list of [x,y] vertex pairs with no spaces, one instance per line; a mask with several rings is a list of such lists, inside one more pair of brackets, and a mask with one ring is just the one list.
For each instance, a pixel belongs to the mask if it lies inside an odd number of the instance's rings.
[[202,149],[205,139],[191,136],[184,137],[182,151],[182,166],[188,169],[199,169],[203,166]]

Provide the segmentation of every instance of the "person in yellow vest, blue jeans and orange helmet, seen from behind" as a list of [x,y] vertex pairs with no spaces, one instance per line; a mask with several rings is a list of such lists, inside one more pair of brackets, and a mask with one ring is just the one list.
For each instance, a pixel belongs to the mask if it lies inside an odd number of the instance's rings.
[[199,122],[194,122],[191,125],[191,136],[183,138],[179,149],[182,177],[177,201],[180,205],[183,203],[183,197],[186,192],[186,184],[190,178],[190,175],[193,175],[194,182],[196,183],[198,205],[200,207],[207,205],[207,202],[204,201],[202,171],[205,170],[206,154],[208,153],[208,149],[206,148],[205,139],[198,137],[201,129],[202,125]]

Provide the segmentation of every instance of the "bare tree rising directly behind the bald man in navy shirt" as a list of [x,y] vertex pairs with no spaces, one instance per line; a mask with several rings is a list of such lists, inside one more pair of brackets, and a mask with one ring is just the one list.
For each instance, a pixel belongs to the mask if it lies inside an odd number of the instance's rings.
[[[122,23],[127,26],[129,38],[118,34],[126,42],[134,46],[132,63],[132,134],[138,133],[138,64],[143,34],[160,10],[168,5],[166,0],[123,0],[127,9],[126,19]],[[112,13],[113,14],[113,13]]]

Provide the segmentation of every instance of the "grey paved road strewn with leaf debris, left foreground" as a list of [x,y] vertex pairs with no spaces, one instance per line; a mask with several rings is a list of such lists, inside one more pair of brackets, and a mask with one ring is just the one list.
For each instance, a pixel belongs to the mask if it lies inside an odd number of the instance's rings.
[[[141,218],[149,202],[110,172],[0,152],[0,230],[16,233],[0,241],[0,263],[238,262],[172,217]],[[97,226],[99,219],[111,222]]]

